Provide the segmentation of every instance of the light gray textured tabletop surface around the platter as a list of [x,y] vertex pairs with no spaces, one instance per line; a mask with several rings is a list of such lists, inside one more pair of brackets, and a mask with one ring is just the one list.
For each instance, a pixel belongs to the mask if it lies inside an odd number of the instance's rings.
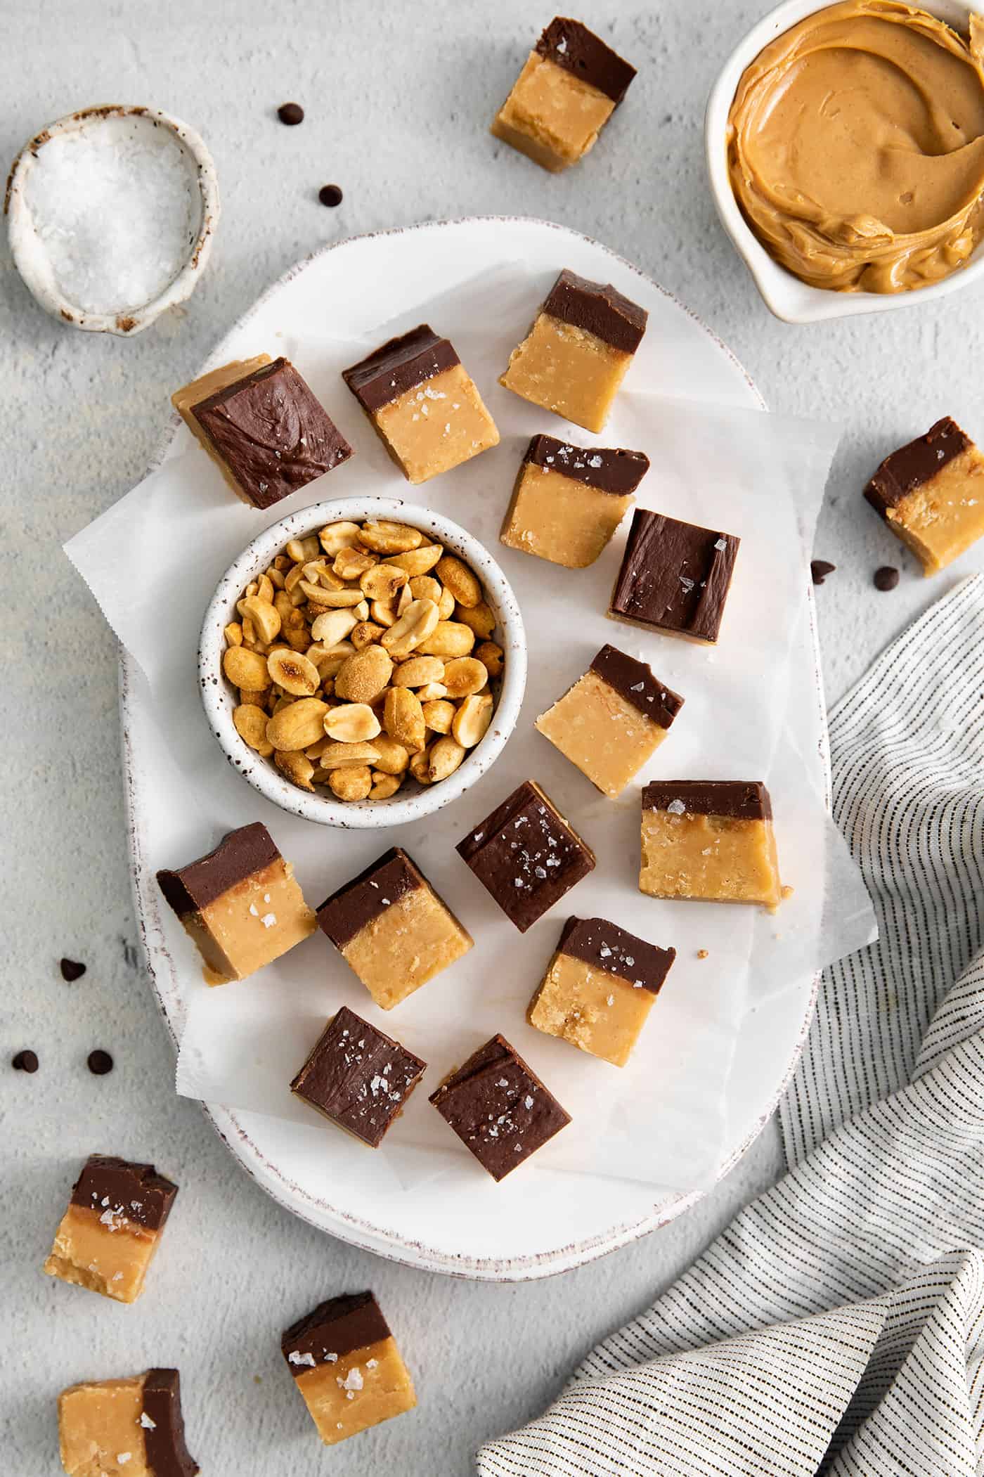
[[[858,489],[888,449],[944,412],[984,436],[984,300],[971,289],[808,329],[770,318],[718,229],[702,162],[708,87],[764,7],[592,0],[585,19],[640,77],[590,161],[554,179],[486,133],[550,16],[525,0],[0,6],[0,158],[86,103],[152,103],[202,131],[225,204],[197,295],[130,343],[47,319],[0,248],[0,1467],[10,1477],[59,1470],[62,1385],[167,1363],[182,1368],[189,1440],[207,1477],[312,1477],[328,1467],[346,1477],[458,1477],[483,1437],[536,1413],[581,1354],[666,1286],[779,1171],[770,1127],[674,1226],[525,1286],[468,1285],[375,1260],[266,1199],[171,1090],[170,1046],[136,957],[115,644],[59,551],[140,477],[170,390],[297,257],[431,217],[545,216],[600,238],[678,294],[734,349],[770,405],[845,422],[816,548],[838,564],[817,595],[827,693],[839,696],[951,583],[918,578]],[[287,99],[307,108],[303,127],[276,123]],[[316,202],[327,182],[344,189],[335,211]],[[882,563],[903,567],[891,595],[872,588]],[[87,963],[78,984],[62,982],[61,954]],[[41,1058],[35,1077],[6,1066],[25,1046]],[[112,1075],[87,1072],[95,1046],[114,1053]],[[131,1309],[38,1272],[72,1170],[93,1149],[154,1156],[183,1186],[152,1286]],[[278,1332],[318,1297],[369,1284],[400,1329],[421,1405],[328,1456],[281,1368]]]

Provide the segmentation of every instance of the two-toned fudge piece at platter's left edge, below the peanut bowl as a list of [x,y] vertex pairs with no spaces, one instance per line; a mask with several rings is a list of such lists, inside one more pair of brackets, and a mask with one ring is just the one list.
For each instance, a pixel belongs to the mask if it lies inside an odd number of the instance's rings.
[[245,979],[318,926],[266,826],[229,832],[214,851],[157,880],[205,962],[205,982]]

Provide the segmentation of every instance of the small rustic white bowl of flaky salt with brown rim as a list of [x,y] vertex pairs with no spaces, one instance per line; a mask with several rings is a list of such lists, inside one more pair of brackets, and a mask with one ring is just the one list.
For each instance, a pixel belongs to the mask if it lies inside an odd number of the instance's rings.
[[41,128],[15,160],[10,251],[55,318],[129,337],[198,285],[219,222],[216,167],[179,118],[102,106]]

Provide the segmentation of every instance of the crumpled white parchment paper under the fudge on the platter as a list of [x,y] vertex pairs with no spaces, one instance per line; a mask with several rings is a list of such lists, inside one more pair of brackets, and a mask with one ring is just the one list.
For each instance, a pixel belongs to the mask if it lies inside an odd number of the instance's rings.
[[[561,263],[558,263],[560,266]],[[526,405],[496,384],[525,334],[548,278],[504,263],[480,281],[417,304],[369,338],[303,338],[276,344],[306,375],[356,456],[266,514],[232,498],[211,461],[182,428],[177,455],[66,545],[106,619],[146,679],[171,762],[186,849],[152,857],[180,866],[220,835],[263,820],[297,870],[313,905],[387,846],[405,846],[473,933],[476,947],[396,1010],[378,1010],[328,941],[315,935],[239,984],[208,990],[195,951],[168,916],[168,945],[185,979],[188,1016],[177,1066],[186,1096],[275,1114],[313,1136],[338,1173],[371,1174],[412,1190],[468,1159],[427,1103],[440,1078],[492,1032],[530,1062],[572,1124],[519,1174],[584,1173],[687,1190],[714,1182],[725,1131],[725,1086],[746,1010],[873,936],[857,868],[810,784],[787,731],[789,653],[808,619],[808,557],[838,433],[765,412],[674,400],[666,346],[643,340],[626,390],[603,437],[644,450],[652,468],[638,502],[742,539],[721,641],[674,641],[606,619],[626,526],[588,570],[563,570],[498,544],[516,468],[536,431],[591,437]],[[455,343],[502,434],[501,445],[420,489],[400,479],[338,371],[384,337],[427,319]],[[335,315],[335,328],[338,316]],[[465,524],[496,555],[523,609],[530,678],[505,753],[465,796],[427,821],[396,830],[334,832],[290,817],[235,778],[207,731],[195,681],[198,628],[226,566],[269,523],[325,498],[372,492],[424,502]],[[123,557],[126,551],[126,557]],[[163,619],[164,613],[164,619]],[[686,699],[650,777],[767,781],[783,882],[776,916],[742,907],[643,897],[638,879],[638,786],[601,796],[532,724],[588,666],[606,641],[649,662]],[[455,843],[523,778],[538,780],[597,854],[597,868],[526,935],[519,935],[455,854]],[[570,913],[607,917],[674,945],[677,963],[623,1069],[533,1031],[525,1019]],[[702,957],[703,956],[703,957]],[[377,1154],[362,1149],[295,1102],[288,1084],[340,1004],[396,1035],[430,1069]],[[318,1152],[318,1151],[315,1151]],[[477,1174],[482,1174],[476,1168]]]

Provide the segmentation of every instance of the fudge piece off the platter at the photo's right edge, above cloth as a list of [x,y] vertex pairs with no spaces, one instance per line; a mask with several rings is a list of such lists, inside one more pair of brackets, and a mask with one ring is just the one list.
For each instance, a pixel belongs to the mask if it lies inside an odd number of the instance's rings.
[[864,496],[937,575],[984,535],[984,452],[946,415],[886,456]]

